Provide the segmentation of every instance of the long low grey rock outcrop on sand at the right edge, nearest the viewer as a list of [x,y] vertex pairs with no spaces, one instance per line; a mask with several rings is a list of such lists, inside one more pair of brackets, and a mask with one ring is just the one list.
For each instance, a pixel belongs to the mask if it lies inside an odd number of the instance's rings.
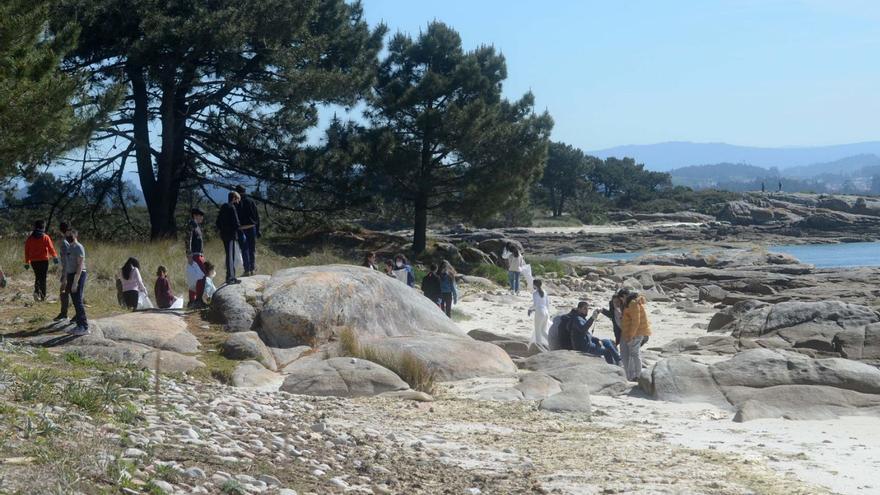
[[753,349],[714,364],[671,357],[644,373],[640,386],[659,400],[706,402],[735,411],[734,421],[880,415],[880,370],[787,351]]

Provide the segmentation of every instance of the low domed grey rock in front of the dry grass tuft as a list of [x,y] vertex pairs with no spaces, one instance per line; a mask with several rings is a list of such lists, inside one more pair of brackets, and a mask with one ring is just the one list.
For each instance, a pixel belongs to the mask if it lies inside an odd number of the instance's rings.
[[297,362],[288,371],[281,390],[292,394],[366,397],[409,388],[392,371],[355,358]]

